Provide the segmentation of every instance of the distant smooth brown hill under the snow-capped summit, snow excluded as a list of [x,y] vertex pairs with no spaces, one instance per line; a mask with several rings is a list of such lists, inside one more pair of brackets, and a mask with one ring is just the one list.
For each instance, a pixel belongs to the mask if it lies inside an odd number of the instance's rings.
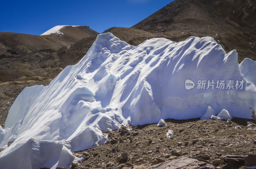
[[12,32],[0,32],[0,58],[22,55],[42,49],[59,49],[79,41],[84,37],[99,33],[87,26],[66,26],[60,29],[64,35],[27,35]]

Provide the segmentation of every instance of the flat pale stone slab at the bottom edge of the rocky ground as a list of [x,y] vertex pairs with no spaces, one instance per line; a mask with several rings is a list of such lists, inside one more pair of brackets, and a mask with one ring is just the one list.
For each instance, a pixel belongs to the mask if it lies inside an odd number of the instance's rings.
[[193,158],[180,157],[160,164],[153,165],[147,169],[214,169],[214,166]]

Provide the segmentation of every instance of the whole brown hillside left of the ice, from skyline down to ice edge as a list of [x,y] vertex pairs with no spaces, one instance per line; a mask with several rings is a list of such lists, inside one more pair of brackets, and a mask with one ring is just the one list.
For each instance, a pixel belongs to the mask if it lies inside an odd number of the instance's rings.
[[71,44],[82,38],[99,34],[87,26],[66,26],[60,31],[61,36],[0,32],[0,124],[2,126],[12,103],[26,86],[48,85],[63,70],[62,63],[65,67],[79,61],[78,58],[72,62],[74,60],[72,56],[67,55],[64,59],[60,55],[66,53]]

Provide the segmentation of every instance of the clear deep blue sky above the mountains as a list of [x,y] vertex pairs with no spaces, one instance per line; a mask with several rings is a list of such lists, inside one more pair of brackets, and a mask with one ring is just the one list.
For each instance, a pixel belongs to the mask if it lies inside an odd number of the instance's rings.
[[132,27],[173,0],[2,0],[0,32],[41,35],[56,25],[83,25],[102,33]]

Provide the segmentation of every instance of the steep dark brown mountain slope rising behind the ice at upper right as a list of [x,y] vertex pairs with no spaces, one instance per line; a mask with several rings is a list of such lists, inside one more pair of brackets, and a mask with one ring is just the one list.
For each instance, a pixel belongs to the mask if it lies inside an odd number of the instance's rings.
[[[175,0],[132,28],[180,36],[212,36],[238,61],[256,60],[256,2],[254,0]],[[181,36],[181,34],[183,36]]]

